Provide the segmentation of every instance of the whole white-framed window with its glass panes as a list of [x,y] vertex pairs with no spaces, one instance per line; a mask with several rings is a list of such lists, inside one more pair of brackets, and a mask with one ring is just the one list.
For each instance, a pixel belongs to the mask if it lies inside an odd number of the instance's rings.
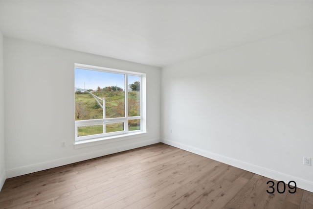
[[75,64],[75,140],[145,131],[145,74]]

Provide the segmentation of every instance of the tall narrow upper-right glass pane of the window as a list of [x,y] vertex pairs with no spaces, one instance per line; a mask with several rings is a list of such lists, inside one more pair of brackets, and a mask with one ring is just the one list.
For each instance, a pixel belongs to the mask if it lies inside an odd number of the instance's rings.
[[128,76],[128,116],[140,116],[140,76]]

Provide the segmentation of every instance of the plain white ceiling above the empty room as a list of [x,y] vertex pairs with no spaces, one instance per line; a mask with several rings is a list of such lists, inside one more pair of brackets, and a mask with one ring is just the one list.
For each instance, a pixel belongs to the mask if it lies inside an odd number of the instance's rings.
[[4,36],[163,67],[313,25],[313,0],[0,0]]

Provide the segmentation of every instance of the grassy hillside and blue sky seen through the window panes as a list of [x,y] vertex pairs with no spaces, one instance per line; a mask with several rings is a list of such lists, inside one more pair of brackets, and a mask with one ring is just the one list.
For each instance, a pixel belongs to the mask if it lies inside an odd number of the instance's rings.
[[[128,102],[125,104],[125,76]],[[78,126],[78,137],[117,131],[140,130],[140,76],[75,68],[75,120],[126,117],[124,122],[106,121]],[[125,121],[126,122],[126,121]],[[126,126],[127,125],[127,126]]]

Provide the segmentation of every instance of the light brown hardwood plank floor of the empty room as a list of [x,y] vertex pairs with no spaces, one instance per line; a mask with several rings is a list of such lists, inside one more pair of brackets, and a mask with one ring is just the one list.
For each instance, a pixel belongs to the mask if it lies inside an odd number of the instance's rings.
[[158,143],[7,179],[0,209],[313,209],[312,192],[268,194],[270,180]]

